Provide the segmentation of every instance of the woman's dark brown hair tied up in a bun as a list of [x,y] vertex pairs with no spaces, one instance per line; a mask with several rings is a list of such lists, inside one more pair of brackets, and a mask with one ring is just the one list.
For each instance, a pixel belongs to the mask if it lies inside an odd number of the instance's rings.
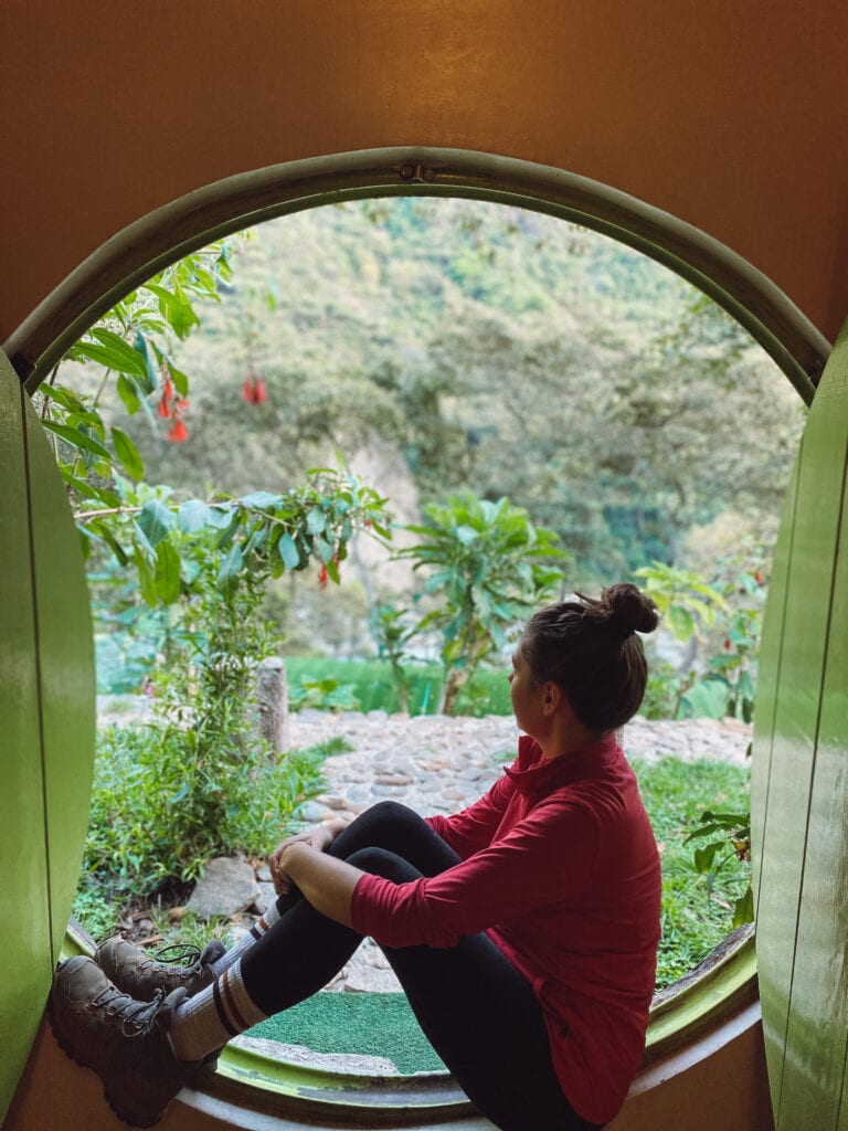
[[592,731],[614,731],[639,710],[648,664],[637,632],[652,632],[657,606],[634,585],[613,585],[599,599],[577,594],[540,610],[521,637],[536,685],[548,680]]

